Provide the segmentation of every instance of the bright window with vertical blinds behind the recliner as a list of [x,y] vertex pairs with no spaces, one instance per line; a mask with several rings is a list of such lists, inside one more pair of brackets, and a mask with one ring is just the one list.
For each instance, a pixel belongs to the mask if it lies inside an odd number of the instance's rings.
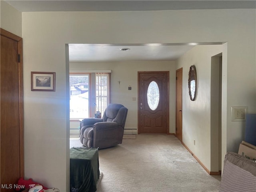
[[110,102],[110,73],[70,73],[70,119],[103,115]]

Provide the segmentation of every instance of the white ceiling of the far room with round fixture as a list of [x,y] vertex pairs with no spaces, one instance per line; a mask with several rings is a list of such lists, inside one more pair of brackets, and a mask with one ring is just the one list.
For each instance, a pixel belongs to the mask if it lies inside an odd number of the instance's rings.
[[[69,44],[70,61],[176,60],[192,45]],[[130,50],[122,51],[121,48]]]

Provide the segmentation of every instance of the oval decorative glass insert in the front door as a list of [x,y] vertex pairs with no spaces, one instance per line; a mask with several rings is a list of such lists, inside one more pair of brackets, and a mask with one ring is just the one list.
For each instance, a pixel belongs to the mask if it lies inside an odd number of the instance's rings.
[[159,104],[159,88],[155,81],[150,82],[147,92],[148,106],[151,110],[156,110]]

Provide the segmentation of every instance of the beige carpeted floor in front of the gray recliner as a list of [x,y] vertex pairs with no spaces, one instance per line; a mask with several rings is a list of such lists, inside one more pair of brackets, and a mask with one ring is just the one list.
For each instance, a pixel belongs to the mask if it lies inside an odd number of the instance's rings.
[[[75,142],[77,144],[75,144]],[[70,147],[81,146],[70,139]],[[218,192],[210,176],[173,135],[136,135],[99,150],[97,192]]]

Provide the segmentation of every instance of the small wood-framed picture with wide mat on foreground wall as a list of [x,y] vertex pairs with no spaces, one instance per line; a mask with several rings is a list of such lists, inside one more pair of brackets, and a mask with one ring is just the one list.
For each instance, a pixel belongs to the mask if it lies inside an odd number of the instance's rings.
[[31,91],[55,91],[55,72],[31,72]]

